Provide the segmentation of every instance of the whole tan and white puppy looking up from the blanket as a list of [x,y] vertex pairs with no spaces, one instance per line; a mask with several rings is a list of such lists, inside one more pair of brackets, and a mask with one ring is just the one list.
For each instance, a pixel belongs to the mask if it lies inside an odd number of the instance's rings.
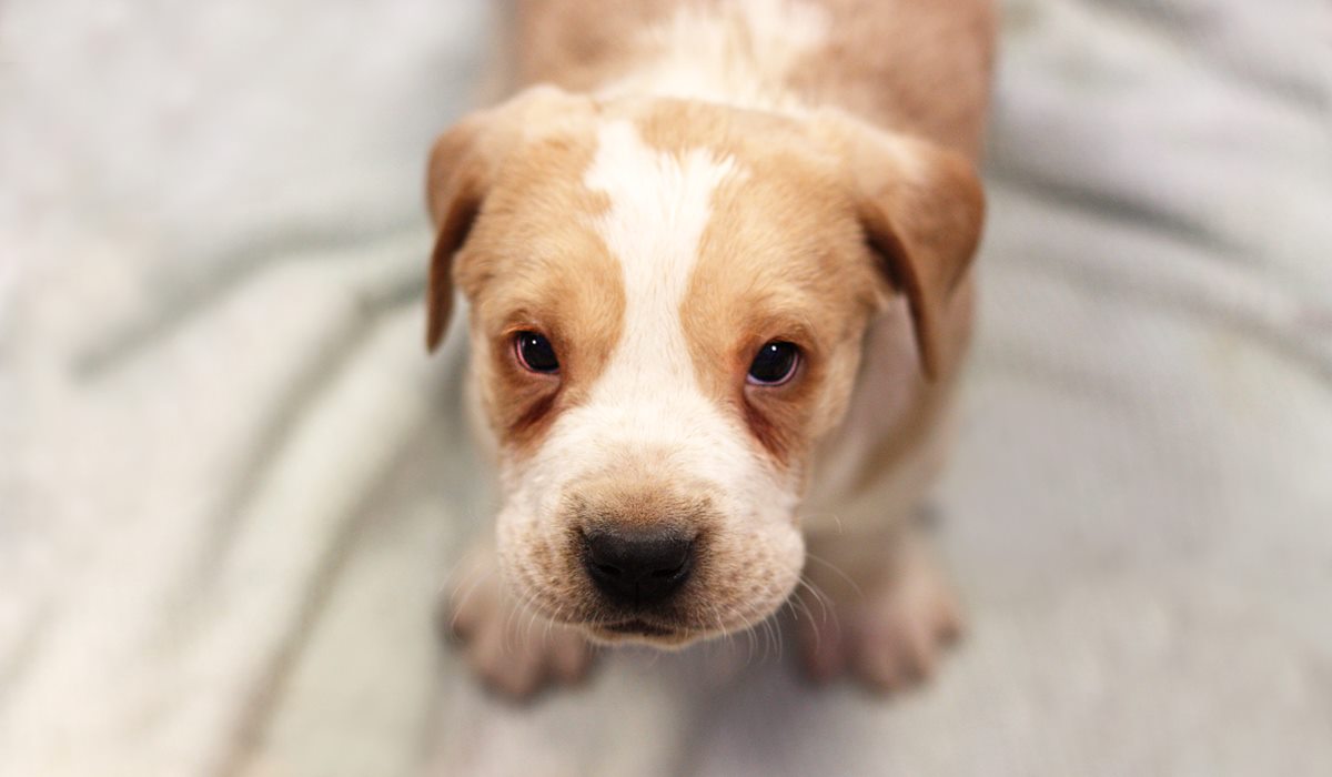
[[[468,300],[501,504],[448,597],[522,696],[787,600],[815,678],[960,628],[916,520],[974,311],[986,0],[533,0],[434,144],[428,347]],[[810,560],[810,564],[806,564]],[[533,628],[533,624],[541,624]]]

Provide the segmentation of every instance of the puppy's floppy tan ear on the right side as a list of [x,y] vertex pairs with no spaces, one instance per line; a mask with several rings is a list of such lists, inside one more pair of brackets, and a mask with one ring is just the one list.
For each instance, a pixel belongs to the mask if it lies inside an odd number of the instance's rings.
[[971,160],[924,140],[835,117],[856,215],[886,279],[907,297],[920,365],[935,379],[959,356],[964,328],[948,320],[984,220]]

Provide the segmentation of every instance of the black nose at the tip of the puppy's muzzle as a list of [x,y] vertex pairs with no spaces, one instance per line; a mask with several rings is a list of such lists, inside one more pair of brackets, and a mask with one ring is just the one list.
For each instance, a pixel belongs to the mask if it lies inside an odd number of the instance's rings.
[[589,532],[583,564],[597,588],[622,604],[657,604],[689,580],[694,542],[667,530]]

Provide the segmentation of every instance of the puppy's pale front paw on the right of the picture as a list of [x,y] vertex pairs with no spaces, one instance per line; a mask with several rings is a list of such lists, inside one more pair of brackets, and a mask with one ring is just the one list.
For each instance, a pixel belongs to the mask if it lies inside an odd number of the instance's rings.
[[810,578],[799,633],[814,680],[848,673],[879,692],[903,689],[930,677],[962,632],[956,597],[923,552],[864,584],[832,569],[811,569]]

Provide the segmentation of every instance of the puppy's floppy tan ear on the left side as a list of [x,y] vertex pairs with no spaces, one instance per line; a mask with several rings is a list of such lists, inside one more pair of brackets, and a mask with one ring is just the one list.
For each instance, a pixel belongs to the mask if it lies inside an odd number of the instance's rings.
[[550,85],[535,85],[507,103],[478,111],[434,141],[426,177],[426,203],[434,223],[434,251],[426,287],[426,349],[433,352],[444,340],[453,308],[453,257],[462,249],[472,224],[505,155],[522,143],[527,128],[549,125],[537,121],[538,112],[567,113],[575,97]]

